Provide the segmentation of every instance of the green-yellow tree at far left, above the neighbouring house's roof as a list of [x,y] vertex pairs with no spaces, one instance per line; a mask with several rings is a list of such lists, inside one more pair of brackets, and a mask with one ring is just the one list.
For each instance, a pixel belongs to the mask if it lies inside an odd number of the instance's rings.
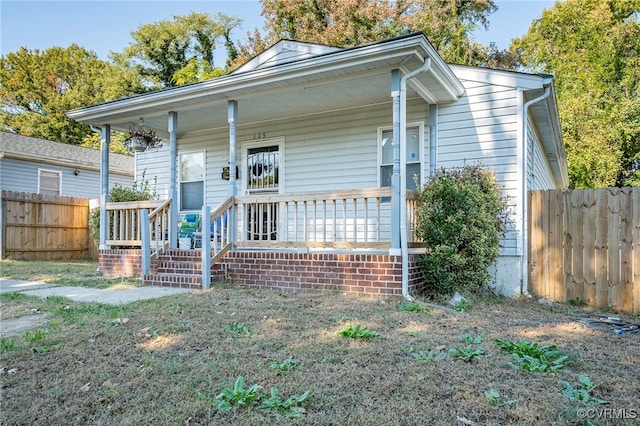
[[95,137],[65,111],[143,90],[135,72],[76,44],[43,51],[22,47],[0,58],[0,123],[3,131],[80,145]]

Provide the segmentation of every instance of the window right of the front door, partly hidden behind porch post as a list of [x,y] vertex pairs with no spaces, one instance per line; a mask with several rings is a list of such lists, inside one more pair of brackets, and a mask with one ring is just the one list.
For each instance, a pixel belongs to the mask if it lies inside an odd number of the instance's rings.
[[[407,127],[407,189],[417,190],[416,179],[420,182],[422,157],[419,126]],[[380,139],[380,186],[391,186],[393,174],[393,129],[382,129],[378,132]]]

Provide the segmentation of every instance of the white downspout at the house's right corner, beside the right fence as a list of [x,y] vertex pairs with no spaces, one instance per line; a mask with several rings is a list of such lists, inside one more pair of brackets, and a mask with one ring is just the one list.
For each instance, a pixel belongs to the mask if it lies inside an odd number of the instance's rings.
[[520,281],[520,294],[530,297],[529,294],[529,184],[527,165],[528,157],[528,138],[527,138],[527,122],[529,117],[529,107],[537,102],[546,99],[551,94],[551,85],[547,85],[544,93],[537,98],[533,98],[522,107],[522,125],[520,126],[520,140],[522,141],[522,256],[520,256],[520,271],[522,280]]

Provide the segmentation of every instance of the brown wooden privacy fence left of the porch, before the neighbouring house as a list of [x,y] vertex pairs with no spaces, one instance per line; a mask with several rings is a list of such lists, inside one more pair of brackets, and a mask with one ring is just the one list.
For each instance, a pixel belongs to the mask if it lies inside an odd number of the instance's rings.
[[87,259],[89,199],[2,191],[0,258]]

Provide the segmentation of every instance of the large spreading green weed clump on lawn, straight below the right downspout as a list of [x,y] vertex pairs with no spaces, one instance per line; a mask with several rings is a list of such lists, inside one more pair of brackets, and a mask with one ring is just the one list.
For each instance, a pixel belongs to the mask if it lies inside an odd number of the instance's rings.
[[544,373],[556,371],[564,367],[564,362],[569,359],[556,349],[555,345],[540,346],[535,342],[521,340],[519,343],[496,339],[496,344],[507,353],[511,354],[515,364],[510,362],[513,368],[532,373]]

